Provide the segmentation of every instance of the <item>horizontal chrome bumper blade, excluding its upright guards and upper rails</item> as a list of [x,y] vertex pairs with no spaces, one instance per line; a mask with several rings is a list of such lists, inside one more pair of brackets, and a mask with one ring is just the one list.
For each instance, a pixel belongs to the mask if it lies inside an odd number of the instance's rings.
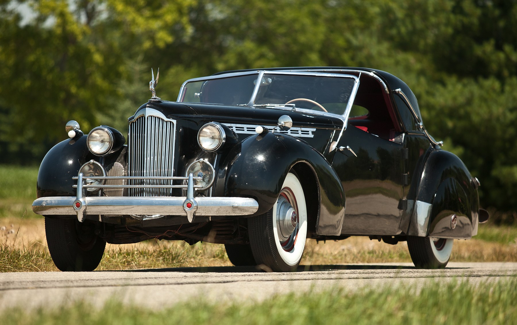
[[[74,215],[73,203],[76,197],[42,197],[33,203],[33,211],[41,215]],[[186,197],[85,197],[84,215],[182,215]],[[253,214],[258,203],[251,198],[240,197],[197,197],[199,216],[240,216]],[[77,212],[79,214],[79,212]]]

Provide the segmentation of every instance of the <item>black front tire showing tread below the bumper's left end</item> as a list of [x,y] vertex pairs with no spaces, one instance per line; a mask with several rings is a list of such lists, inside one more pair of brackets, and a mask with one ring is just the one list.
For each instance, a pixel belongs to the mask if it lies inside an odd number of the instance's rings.
[[50,256],[61,271],[93,271],[104,254],[106,242],[95,234],[95,225],[75,218],[45,218]]

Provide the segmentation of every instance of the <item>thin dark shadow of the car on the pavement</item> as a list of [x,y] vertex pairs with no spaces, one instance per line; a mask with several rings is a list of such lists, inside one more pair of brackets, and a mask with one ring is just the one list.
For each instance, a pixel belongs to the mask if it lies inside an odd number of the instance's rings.
[[[468,268],[447,268],[468,269]],[[383,264],[325,264],[325,265],[299,265],[294,272],[321,272],[338,270],[416,270],[414,266],[407,265],[383,265]],[[161,268],[143,270],[119,270],[118,272],[191,272],[191,273],[264,273],[271,272],[265,265],[240,266],[240,267],[192,267],[192,268]]]

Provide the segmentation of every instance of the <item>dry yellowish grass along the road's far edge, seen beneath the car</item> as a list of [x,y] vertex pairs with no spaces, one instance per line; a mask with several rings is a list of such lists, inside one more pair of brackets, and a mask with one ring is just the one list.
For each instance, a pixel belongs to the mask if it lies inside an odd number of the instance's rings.
[[[517,261],[515,228],[485,226],[479,239],[455,241],[451,261]],[[505,238],[501,241],[501,238]],[[367,237],[317,243],[308,240],[301,264],[410,262],[407,245]],[[149,240],[107,245],[97,270],[232,265],[223,245]],[[0,218],[0,271],[57,271],[47,249],[43,218]]]

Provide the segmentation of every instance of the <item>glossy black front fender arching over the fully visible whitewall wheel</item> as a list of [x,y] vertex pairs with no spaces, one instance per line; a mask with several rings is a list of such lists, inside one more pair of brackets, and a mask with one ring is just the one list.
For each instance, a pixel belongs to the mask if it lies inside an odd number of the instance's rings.
[[[216,193],[254,198],[258,211],[253,216],[261,215],[275,204],[285,177],[293,168],[304,187],[312,230],[317,234],[339,235],[345,208],[343,186],[327,160],[298,138],[268,132],[235,145],[222,157]],[[309,224],[311,228],[311,220]]]

